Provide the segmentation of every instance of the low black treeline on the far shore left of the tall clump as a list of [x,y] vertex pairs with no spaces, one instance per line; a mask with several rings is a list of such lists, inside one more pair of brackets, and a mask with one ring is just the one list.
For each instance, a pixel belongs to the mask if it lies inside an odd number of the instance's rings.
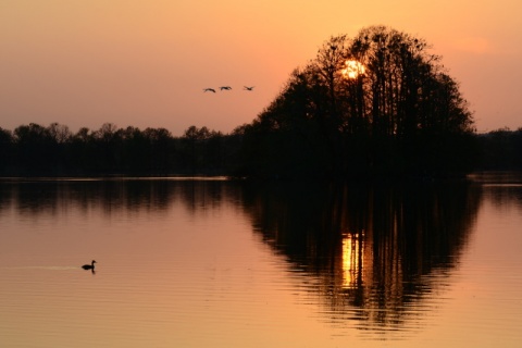
[[72,133],[66,125],[32,123],[0,128],[0,175],[225,175],[237,162],[241,135],[190,126],[165,128],[105,123]]

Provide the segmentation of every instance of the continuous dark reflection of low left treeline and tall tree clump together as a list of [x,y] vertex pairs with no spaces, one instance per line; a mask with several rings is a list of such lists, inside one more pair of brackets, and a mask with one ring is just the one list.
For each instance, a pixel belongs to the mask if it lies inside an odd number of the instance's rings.
[[422,318],[436,297],[430,295],[449,285],[481,195],[467,183],[4,182],[0,216],[16,210],[37,221],[101,209],[107,216],[150,219],[172,213],[175,204],[196,216],[226,202],[243,210],[262,243],[287,261],[310,302],[322,303],[322,320],[394,331],[411,330],[411,319]]

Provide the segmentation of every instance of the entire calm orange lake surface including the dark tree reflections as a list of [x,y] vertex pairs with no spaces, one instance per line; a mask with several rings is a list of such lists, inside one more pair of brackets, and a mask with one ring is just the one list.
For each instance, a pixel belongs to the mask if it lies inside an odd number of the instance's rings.
[[0,346],[520,347],[521,251],[517,175],[2,182]]

